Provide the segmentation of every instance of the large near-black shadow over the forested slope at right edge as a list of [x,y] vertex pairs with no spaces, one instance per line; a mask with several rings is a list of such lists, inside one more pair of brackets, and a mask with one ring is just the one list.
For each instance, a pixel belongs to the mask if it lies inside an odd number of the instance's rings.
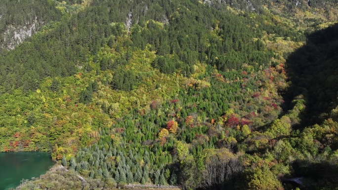
[[[304,46],[286,62],[291,86],[284,95],[289,100],[303,95],[306,109],[296,128],[320,123],[338,105],[338,24],[308,35]],[[290,110],[290,109],[289,109]]]

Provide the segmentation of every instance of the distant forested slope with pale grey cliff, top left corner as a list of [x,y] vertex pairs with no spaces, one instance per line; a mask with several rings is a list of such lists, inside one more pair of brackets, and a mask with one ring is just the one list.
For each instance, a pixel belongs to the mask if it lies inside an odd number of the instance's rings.
[[55,0],[0,0],[0,49],[14,49],[50,21],[61,19]]

